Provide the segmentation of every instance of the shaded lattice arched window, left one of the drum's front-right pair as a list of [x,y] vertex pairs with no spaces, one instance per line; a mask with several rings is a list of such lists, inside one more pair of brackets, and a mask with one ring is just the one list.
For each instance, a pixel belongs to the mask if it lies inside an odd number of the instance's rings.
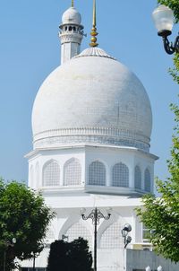
[[91,162],[89,168],[89,184],[94,186],[106,185],[106,168],[102,162]]

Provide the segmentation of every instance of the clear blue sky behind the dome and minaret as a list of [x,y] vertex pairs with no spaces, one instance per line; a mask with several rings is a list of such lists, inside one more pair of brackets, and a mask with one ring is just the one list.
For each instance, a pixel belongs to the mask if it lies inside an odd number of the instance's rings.
[[[0,175],[28,179],[24,154],[32,150],[31,109],[40,84],[60,64],[58,25],[70,0],[5,0],[0,2]],[[88,37],[92,0],[76,0]],[[150,152],[160,157],[155,175],[166,176],[173,133],[171,102],[178,86],[167,74],[172,57],[164,52],[151,13],[157,0],[97,0],[98,43],[141,79],[153,111]],[[178,25],[175,26],[174,39]]]

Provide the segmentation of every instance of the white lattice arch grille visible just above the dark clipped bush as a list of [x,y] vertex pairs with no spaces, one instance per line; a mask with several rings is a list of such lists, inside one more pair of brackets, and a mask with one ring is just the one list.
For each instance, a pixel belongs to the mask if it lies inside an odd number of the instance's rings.
[[72,227],[64,233],[64,235],[68,237],[68,241],[72,241],[81,237],[89,241],[90,250],[93,247],[90,231],[81,223],[74,223]]

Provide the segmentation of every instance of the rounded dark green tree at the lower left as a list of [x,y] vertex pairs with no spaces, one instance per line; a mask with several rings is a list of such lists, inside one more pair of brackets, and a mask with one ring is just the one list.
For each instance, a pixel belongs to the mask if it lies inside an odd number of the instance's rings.
[[[6,270],[14,266],[14,258],[29,259],[43,249],[47,225],[54,214],[43,197],[24,184],[4,183],[0,179],[0,270],[4,253]],[[13,238],[16,239],[11,246]]]

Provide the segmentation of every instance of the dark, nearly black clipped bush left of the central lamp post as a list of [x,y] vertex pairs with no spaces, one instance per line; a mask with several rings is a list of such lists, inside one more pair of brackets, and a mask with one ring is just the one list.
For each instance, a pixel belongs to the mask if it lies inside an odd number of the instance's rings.
[[50,246],[47,271],[91,271],[91,265],[92,256],[87,240],[55,240]]

